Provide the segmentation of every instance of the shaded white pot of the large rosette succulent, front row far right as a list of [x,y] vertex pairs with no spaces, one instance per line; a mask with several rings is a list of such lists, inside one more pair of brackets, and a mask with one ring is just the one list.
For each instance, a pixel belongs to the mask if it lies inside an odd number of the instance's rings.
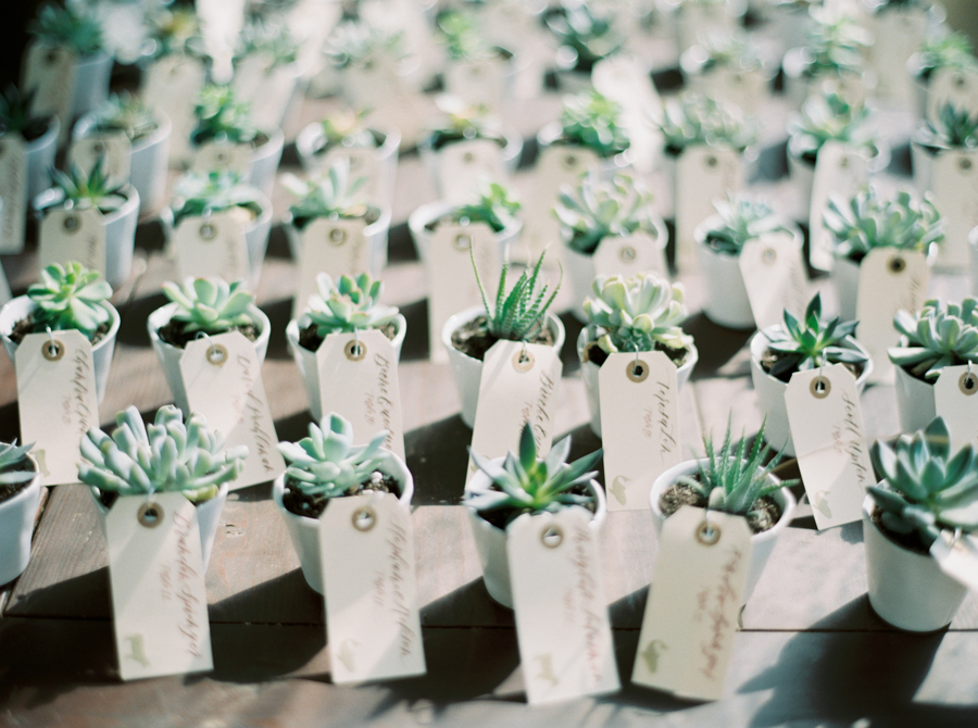
[[968,590],[944,574],[931,556],[907,551],[869,520],[876,506],[863,501],[866,578],[874,612],[900,629],[930,632],[951,624]]

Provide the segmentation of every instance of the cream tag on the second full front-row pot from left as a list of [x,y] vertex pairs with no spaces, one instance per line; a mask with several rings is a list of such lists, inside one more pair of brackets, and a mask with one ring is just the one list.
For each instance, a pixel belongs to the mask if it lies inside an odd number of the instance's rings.
[[333,681],[424,675],[408,509],[393,493],[334,498],[319,549]]

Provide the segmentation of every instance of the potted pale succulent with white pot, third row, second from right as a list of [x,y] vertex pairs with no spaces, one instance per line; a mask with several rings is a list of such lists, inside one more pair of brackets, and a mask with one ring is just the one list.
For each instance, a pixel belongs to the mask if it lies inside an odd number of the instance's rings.
[[743,247],[762,236],[790,235],[801,250],[803,238],[797,225],[775,213],[767,202],[728,194],[713,203],[716,215],[693,231],[700,269],[706,283],[703,313],[727,328],[753,328],[754,314],[738,259]]

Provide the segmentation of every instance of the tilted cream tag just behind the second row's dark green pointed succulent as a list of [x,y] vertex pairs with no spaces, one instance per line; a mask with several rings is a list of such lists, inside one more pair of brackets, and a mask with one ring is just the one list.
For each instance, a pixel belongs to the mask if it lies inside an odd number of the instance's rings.
[[749,240],[740,251],[738,265],[758,329],[779,324],[785,311],[795,316],[804,313],[808,278],[793,235],[765,233]]

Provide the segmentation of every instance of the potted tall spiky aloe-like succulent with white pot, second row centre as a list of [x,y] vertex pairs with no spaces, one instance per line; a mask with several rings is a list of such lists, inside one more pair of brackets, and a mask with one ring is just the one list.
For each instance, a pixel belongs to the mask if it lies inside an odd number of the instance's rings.
[[536,265],[524,268],[507,292],[509,260],[504,258],[494,303],[490,306],[473,259],[472,268],[482,296],[482,305],[456,313],[441,329],[441,342],[448,350],[455,388],[462,402],[462,422],[468,427],[475,426],[482,360],[492,344],[503,339],[526,341],[551,346],[557,353],[564,346],[564,325],[555,315],[548,313],[561,288],[561,281],[557,281],[548,298],[550,286],[540,281],[542,265],[543,255],[540,255]]

